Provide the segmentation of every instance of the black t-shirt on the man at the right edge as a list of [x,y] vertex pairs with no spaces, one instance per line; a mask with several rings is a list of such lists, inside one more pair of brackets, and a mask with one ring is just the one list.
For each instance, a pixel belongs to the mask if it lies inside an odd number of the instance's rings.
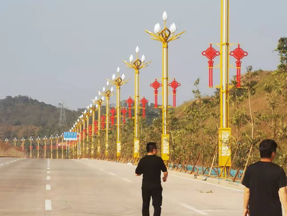
[[242,184],[249,188],[250,216],[282,216],[278,191],[287,186],[284,170],[272,162],[248,166]]

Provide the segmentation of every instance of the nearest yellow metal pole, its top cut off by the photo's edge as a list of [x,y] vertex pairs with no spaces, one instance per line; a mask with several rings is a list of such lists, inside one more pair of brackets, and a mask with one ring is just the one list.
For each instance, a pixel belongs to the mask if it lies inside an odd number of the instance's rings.
[[221,0],[221,37],[220,37],[220,128],[218,131],[218,165],[231,166],[229,127],[229,0]]

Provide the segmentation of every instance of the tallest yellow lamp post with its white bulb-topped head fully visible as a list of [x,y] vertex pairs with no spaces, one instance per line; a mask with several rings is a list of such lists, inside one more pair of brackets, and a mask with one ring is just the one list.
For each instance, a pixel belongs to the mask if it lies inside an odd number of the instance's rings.
[[160,24],[157,23],[152,33],[145,30],[152,36],[153,40],[162,42],[162,135],[161,135],[161,157],[164,161],[169,160],[169,134],[167,129],[168,118],[168,42],[177,40],[181,34],[175,34],[176,25],[173,23],[168,29],[166,27],[167,13],[164,11],[163,20],[164,28],[161,30]]

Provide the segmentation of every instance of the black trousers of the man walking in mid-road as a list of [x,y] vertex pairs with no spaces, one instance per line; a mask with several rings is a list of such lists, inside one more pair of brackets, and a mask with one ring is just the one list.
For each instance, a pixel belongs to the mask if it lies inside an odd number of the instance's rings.
[[160,184],[144,184],[142,185],[143,197],[143,216],[149,216],[149,203],[152,197],[152,205],[154,208],[153,216],[160,216],[162,204],[162,187]]

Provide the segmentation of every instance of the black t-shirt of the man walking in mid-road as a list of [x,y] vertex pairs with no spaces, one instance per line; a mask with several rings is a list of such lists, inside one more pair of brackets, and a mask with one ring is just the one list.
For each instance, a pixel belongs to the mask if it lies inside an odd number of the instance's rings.
[[135,169],[136,174],[143,174],[143,184],[161,184],[160,171],[166,172],[167,169],[164,161],[156,155],[143,157]]

